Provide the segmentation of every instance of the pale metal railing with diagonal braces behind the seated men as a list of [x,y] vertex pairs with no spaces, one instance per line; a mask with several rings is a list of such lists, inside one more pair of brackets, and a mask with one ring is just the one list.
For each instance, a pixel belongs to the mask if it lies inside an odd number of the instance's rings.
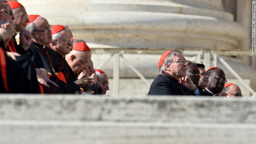
[[[196,61],[197,63],[201,63],[201,56],[204,56],[204,65],[205,69],[210,68],[210,66],[217,66],[217,59],[226,66],[228,70],[234,76],[240,80],[240,82],[248,88],[250,93],[252,93],[253,97],[256,97],[256,92],[242,80],[242,78],[228,65],[228,63],[221,57],[224,56],[255,56],[255,53],[252,53],[251,50],[242,50],[242,49],[173,49],[173,48],[91,48],[92,53],[94,54],[110,54],[110,56],[104,60],[97,69],[101,69],[107,62],[114,57],[113,63],[113,95],[119,95],[119,64],[120,59],[122,58],[125,62],[128,63],[128,66],[147,84],[150,86],[150,83],[146,80],[146,78],[132,65],[132,63],[123,56],[123,54],[163,54],[168,50],[179,50],[183,53],[183,55],[193,55],[190,60]],[[213,55],[213,61],[211,64],[211,55]]]

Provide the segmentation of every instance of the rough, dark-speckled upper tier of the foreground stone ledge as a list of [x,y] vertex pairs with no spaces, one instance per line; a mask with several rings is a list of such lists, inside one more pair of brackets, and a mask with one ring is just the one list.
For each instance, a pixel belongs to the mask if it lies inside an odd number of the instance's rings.
[[256,124],[255,99],[1,94],[0,120]]

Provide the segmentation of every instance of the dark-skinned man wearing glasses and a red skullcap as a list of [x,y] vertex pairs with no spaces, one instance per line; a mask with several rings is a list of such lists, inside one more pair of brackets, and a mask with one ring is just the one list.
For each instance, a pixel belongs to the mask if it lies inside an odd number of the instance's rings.
[[218,96],[227,82],[224,71],[218,67],[210,67],[206,70],[206,74],[209,76],[209,82],[204,92],[208,96]]

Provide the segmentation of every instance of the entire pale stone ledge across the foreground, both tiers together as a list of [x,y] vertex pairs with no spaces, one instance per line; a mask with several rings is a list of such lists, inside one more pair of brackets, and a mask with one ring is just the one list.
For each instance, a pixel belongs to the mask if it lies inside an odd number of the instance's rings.
[[1,94],[1,144],[254,144],[255,99]]

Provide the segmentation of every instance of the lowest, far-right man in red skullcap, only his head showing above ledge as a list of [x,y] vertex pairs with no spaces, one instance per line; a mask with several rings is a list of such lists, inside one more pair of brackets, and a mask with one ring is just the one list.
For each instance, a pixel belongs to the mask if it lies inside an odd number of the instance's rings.
[[233,97],[237,97],[237,96],[242,97],[243,96],[242,92],[241,92],[241,89],[236,84],[232,84],[232,83],[225,84],[224,90],[225,90],[225,96],[227,98],[233,98]]

